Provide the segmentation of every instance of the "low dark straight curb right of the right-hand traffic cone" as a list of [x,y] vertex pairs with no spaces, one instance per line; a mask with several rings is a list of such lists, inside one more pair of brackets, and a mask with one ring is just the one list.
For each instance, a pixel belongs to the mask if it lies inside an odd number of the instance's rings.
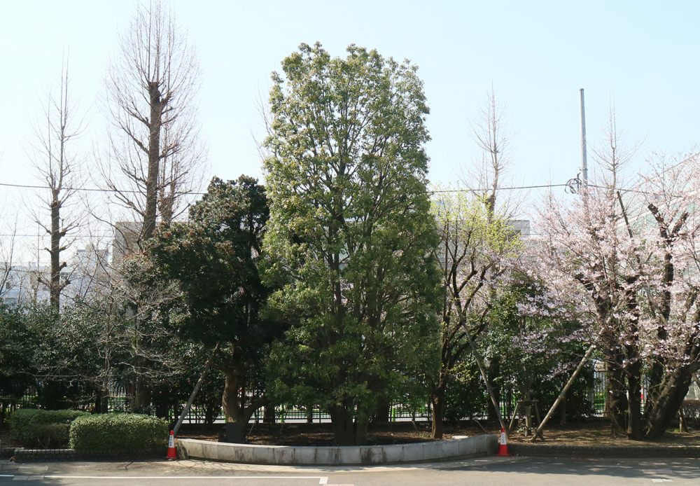
[[700,457],[700,445],[540,445],[508,444],[524,457]]

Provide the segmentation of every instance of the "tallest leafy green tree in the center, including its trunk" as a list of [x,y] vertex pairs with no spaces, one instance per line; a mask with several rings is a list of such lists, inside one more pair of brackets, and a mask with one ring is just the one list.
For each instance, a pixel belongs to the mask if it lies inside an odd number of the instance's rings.
[[265,142],[266,279],[291,326],[271,359],[276,390],[328,410],[336,445],[364,442],[435,339],[439,278],[417,68],[347,52],[302,44],[283,60]]

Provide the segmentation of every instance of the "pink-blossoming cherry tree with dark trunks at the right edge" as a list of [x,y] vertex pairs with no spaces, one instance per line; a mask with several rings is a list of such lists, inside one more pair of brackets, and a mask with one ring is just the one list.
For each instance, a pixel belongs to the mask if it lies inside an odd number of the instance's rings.
[[[542,278],[577,299],[599,336],[613,431],[634,440],[668,429],[700,368],[698,156],[652,162],[625,197],[595,185],[568,204],[550,197],[540,209],[545,237],[532,247]],[[624,204],[631,197],[636,204]]]

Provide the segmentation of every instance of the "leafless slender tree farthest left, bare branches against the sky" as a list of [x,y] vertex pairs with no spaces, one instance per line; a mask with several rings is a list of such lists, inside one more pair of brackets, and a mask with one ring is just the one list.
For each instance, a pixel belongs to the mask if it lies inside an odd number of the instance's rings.
[[48,223],[41,214],[35,214],[34,218],[50,237],[49,247],[45,249],[51,261],[50,275],[46,278],[38,274],[38,283],[48,287],[50,303],[55,308],[59,308],[61,293],[69,284],[67,277],[62,278],[66,262],[61,256],[70,244],[66,235],[78,228],[81,219],[80,211],[66,214],[67,207],[75,205],[70,200],[76,193],[75,188],[80,186],[79,157],[74,141],[83,133],[85,120],[71,94],[70,78],[68,58],[64,57],[56,87],[46,93],[42,117],[34,123],[34,143],[31,144],[34,150],[30,155],[39,179],[48,188],[48,195],[42,197],[42,202],[50,214]]

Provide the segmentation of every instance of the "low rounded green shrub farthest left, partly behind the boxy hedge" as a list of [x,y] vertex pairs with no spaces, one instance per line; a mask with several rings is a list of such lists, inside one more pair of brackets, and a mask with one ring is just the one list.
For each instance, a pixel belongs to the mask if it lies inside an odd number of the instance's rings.
[[10,415],[10,431],[25,447],[65,447],[71,422],[86,415],[80,410],[20,408]]

